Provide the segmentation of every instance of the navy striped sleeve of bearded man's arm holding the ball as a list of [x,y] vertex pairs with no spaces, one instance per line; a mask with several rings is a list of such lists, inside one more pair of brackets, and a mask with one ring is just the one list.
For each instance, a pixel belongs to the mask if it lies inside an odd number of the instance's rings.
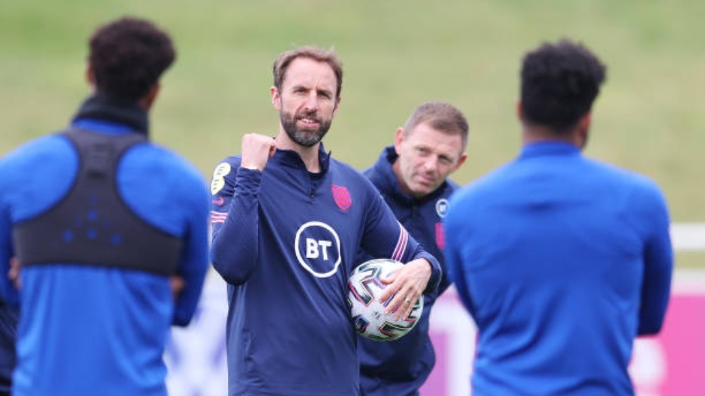
[[[371,185],[370,188],[374,189]],[[431,263],[431,278],[424,294],[433,293],[438,289],[441,279],[441,264],[409,235],[382,196],[378,193],[375,196],[367,211],[362,249],[372,257],[389,257],[404,263],[419,258],[427,259]]]

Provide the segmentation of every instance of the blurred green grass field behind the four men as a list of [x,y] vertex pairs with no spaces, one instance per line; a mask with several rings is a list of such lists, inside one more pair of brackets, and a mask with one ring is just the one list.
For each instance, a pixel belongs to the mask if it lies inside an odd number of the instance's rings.
[[[343,102],[325,139],[362,168],[419,102],[446,100],[471,124],[466,183],[512,159],[523,53],[562,36],[608,65],[588,156],[664,189],[674,221],[705,220],[705,2],[699,0],[8,0],[0,3],[0,154],[63,127],[88,93],[86,40],[122,14],[164,26],[179,58],[163,80],[153,136],[208,177],[246,132],[276,133],[271,62],[303,44],[335,47]],[[51,166],[42,164],[41,166]],[[705,265],[679,255],[679,265]]]

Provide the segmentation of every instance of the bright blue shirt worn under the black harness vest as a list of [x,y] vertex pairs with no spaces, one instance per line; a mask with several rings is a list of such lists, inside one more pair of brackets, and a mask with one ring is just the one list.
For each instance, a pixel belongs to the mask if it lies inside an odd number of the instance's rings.
[[[78,117],[73,126],[135,133],[103,119]],[[74,147],[58,134],[0,160],[0,274],[14,255],[12,225],[56,205],[78,167]],[[177,273],[185,287],[176,301],[169,277],[137,270],[70,262],[23,267],[19,294],[0,277],[3,299],[21,309],[14,396],[167,395],[164,344],[172,323],[191,319],[208,268],[206,186],[196,168],[156,144],[132,146],[117,168],[117,189],[130,210],[184,242]]]

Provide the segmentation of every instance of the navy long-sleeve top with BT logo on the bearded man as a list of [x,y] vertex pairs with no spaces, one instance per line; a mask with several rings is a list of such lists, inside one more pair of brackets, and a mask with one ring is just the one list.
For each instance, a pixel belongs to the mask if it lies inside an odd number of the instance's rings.
[[214,268],[229,283],[230,395],[357,396],[348,277],[362,247],[375,257],[439,263],[399,225],[370,181],[321,146],[320,173],[278,150],[264,171],[240,157],[216,166]]

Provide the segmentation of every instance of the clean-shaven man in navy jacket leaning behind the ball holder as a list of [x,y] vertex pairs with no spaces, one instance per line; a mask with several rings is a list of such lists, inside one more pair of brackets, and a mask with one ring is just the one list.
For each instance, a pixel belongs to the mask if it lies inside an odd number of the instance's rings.
[[[458,187],[448,176],[465,161],[468,122],[444,102],[419,105],[399,127],[394,144],[363,173],[377,187],[399,223],[438,257],[444,269],[442,219]],[[363,254],[360,261],[370,259]],[[357,338],[360,390],[364,396],[413,396],[436,361],[429,338],[429,315],[440,294],[450,286],[445,270],[433,293],[424,294],[424,311],[409,333],[395,341]]]

